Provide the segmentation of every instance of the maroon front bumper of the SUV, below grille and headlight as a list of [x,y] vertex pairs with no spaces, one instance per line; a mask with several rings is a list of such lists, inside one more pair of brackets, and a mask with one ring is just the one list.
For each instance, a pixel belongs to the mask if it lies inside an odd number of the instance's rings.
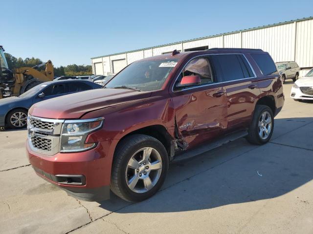
[[38,176],[67,194],[88,201],[110,198],[112,157],[103,152],[106,146],[106,142],[99,142],[89,151],[47,156],[32,151],[26,140],[27,156]]

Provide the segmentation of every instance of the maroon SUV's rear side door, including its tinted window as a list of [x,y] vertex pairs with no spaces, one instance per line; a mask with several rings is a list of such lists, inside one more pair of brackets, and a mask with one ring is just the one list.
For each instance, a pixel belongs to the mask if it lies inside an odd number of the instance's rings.
[[212,62],[226,92],[227,130],[246,127],[261,93],[254,71],[243,54],[212,55]]

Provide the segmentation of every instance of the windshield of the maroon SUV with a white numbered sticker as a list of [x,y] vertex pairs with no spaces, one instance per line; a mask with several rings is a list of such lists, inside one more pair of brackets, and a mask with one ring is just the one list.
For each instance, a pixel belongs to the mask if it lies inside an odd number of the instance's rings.
[[139,91],[158,90],[176,64],[177,59],[134,62],[112,78],[104,87],[129,87]]

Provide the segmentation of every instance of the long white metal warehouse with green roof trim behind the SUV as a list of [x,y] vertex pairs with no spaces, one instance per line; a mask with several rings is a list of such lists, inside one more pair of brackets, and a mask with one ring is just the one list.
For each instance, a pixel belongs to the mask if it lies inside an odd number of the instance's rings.
[[275,62],[296,61],[302,69],[301,76],[313,67],[313,17],[95,57],[91,58],[92,71],[95,75],[109,75],[138,59],[175,49],[195,51],[214,47],[262,49]]

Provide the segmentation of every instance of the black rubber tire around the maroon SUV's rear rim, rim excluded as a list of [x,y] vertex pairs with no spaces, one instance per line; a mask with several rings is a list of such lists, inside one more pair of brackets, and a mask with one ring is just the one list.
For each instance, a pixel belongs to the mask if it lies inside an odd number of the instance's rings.
[[[268,137],[266,139],[263,139],[259,135],[259,120],[262,117],[262,114],[265,112],[268,112],[270,115],[271,129],[270,133],[268,134]],[[272,110],[266,105],[256,105],[253,114],[253,119],[248,129],[248,136],[246,137],[247,141],[250,142],[251,144],[263,145],[269,141],[270,137],[273,134],[273,130],[274,130],[274,115]]]

